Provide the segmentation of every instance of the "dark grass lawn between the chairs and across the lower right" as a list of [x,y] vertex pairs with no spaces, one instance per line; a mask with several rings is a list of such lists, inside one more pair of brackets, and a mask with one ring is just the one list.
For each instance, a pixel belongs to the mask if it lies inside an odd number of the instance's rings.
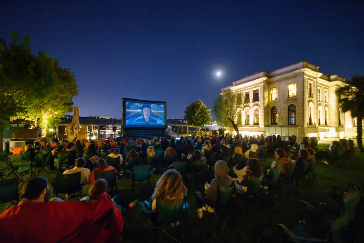
[[[319,149],[327,148],[328,145],[319,145]],[[271,159],[271,158],[270,158]],[[273,158],[272,158],[273,159]],[[270,161],[270,160],[269,160]],[[233,243],[255,243],[259,242],[259,238],[265,229],[274,229],[278,223],[291,226],[297,222],[303,205],[300,200],[307,201],[313,205],[319,204],[325,192],[330,190],[332,186],[338,188],[339,191],[345,191],[348,183],[356,183],[360,186],[364,184],[362,172],[364,171],[364,153],[357,152],[356,157],[348,161],[344,168],[339,168],[336,165],[324,165],[317,163],[317,182],[313,185],[306,185],[302,189],[299,184],[298,194],[291,193],[288,196],[279,197],[276,205],[273,206],[270,202],[258,205],[257,207],[250,206],[247,202],[239,201],[233,217],[231,217],[225,227],[222,236],[216,236],[220,230],[219,223],[223,223],[216,215],[211,215],[206,212],[200,220],[196,214],[194,202],[195,182],[186,182],[188,190],[187,201],[187,221],[184,225],[184,236],[186,242],[233,242]],[[45,174],[51,183],[54,180],[54,174]],[[153,175],[152,188],[160,175]],[[212,177],[212,175],[211,175]],[[212,178],[209,178],[211,180]],[[201,182],[204,184],[204,181]],[[89,186],[83,189],[83,196],[87,196]],[[131,200],[131,178],[124,177],[118,184],[118,194]],[[152,192],[146,191],[136,192],[135,197],[139,201],[148,200]],[[113,196],[113,195],[112,195]],[[8,204],[0,205],[0,212],[4,211]],[[136,214],[126,214],[126,225],[124,228],[124,240],[130,243],[151,242],[150,224],[147,216],[136,207]],[[166,226],[168,232],[174,232],[171,226]],[[178,238],[178,235],[177,235]],[[159,233],[160,242],[174,242],[172,239],[165,237]],[[178,238],[180,239],[180,238]]]

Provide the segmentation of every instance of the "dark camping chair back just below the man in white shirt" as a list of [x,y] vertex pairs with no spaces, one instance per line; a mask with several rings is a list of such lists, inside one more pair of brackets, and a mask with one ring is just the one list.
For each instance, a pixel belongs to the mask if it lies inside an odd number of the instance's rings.
[[[69,201],[69,199],[75,198],[79,201],[81,199],[83,187],[80,184],[80,181],[81,172],[66,175],[57,174],[52,182],[53,197],[58,197],[64,201]],[[60,194],[67,194],[67,196],[63,199]]]

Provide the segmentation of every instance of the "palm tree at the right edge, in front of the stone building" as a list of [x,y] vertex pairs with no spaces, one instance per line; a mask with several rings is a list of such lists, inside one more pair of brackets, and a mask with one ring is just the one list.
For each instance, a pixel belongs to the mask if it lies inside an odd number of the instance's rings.
[[339,107],[357,118],[358,146],[363,151],[364,75],[355,75],[352,80],[346,80],[346,84],[336,91],[340,95]]

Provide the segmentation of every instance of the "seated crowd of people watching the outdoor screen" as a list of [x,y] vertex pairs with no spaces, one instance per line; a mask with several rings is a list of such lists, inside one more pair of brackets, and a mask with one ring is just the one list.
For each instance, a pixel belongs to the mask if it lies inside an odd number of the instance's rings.
[[[69,153],[69,166],[63,171],[63,174],[72,174],[81,172],[80,184],[91,184],[89,196],[83,198],[82,202],[64,202],[61,199],[50,199],[50,190],[45,178],[36,177],[27,181],[20,195],[21,202],[2,214],[0,214],[1,230],[10,229],[22,221],[22,218],[29,218],[29,212],[33,210],[31,215],[41,212],[41,204],[50,203],[47,206],[48,212],[62,212],[67,210],[67,204],[72,203],[72,207],[77,210],[77,219],[81,219],[87,210],[94,210],[92,215],[98,211],[98,217],[106,214],[106,207],[112,209],[112,217],[109,217],[109,223],[113,224],[112,228],[117,229],[115,232],[104,229],[105,239],[115,239],[121,236],[121,231],[124,226],[124,218],[122,215],[122,207],[128,205],[127,201],[118,196],[117,199],[111,199],[108,192],[108,185],[105,180],[96,180],[95,172],[107,172],[115,169],[116,179],[120,180],[124,169],[132,164],[132,161],[137,161],[136,164],[151,163],[154,167],[160,166],[163,168],[162,176],[156,184],[150,203],[145,202],[146,207],[150,207],[152,211],[156,211],[157,204],[169,202],[172,205],[182,204],[185,200],[187,190],[184,186],[182,175],[174,168],[174,162],[185,162],[188,172],[188,178],[193,180],[195,175],[195,164],[197,161],[206,163],[206,173],[214,173],[214,179],[203,187],[197,187],[195,192],[196,208],[198,218],[202,218],[203,211],[213,212],[214,207],[219,204],[220,186],[231,187],[233,185],[241,186],[244,191],[249,187],[249,177],[260,178],[262,175],[269,178],[272,175],[272,168],[279,168],[281,177],[285,177],[289,171],[289,165],[294,166],[296,174],[303,174],[310,167],[311,163],[316,158],[326,163],[330,160],[341,157],[344,153],[355,155],[354,143],[352,140],[333,141],[329,150],[318,151],[315,153],[317,146],[316,138],[305,137],[297,141],[296,136],[290,136],[286,141],[283,141],[281,136],[231,136],[231,135],[207,135],[207,136],[192,136],[181,137],[180,139],[167,140],[165,137],[153,138],[151,141],[145,139],[127,139],[124,141],[115,141],[115,146],[111,146],[112,140],[101,139],[99,142],[85,139],[69,142],[66,139],[59,143],[53,140],[52,143],[45,142],[45,147],[41,148],[42,153],[49,153],[50,157],[57,158],[58,153],[67,151]],[[57,144],[58,147],[52,147],[51,144]],[[86,149],[87,143],[87,149]],[[66,144],[66,146],[64,146]],[[27,146],[31,149],[31,146]],[[162,153],[157,154],[157,151]],[[269,151],[273,151],[275,161],[272,165],[263,165],[262,159]],[[75,152],[75,156],[71,154]],[[124,152],[127,156],[123,158]],[[101,154],[107,154],[107,158],[117,159],[117,168],[109,166],[107,159],[103,159]],[[72,165],[73,164],[73,165]],[[274,164],[274,165],[273,165]],[[134,165],[134,163],[133,163]],[[57,204],[55,204],[57,202]],[[117,202],[121,202],[118,204]],[[37,203],[37,204],[35,204]],[[37,206],[33,206],[37,205]],[[88,206],[85,206],[88,205]],[[208,207],[203,207],[208,205]],[[68,206],[69,207],[69,206]],[[88,239],[89,236],[94,236],[95,232],[91,232],[95,226],[92,225],[95,219],[90,220],[89,228],[84,231],[74,232],[77,228],[67,228],[62,232],[62,236],[77,237]],[[68,224],[68,221],[62,222],[57,220],[57,226]],[[29,222],[30,224],[30,222]],[[5,235],[7,239],[25,239],[25,234],[29,232],[27,224],[20,224],[20,234],[14,234],[14,231],[8,231]],[[173,227],[178,226],[179,222],[175,222]],[[54,231],[50,231],[54,232]],[[24,234],[23,234],[24,233]],[[90,235],[88,235],[90,234]],[[99,236],[97,236],[99,237]],[[46,234],[44,238],[49,239],[49,242],[57,240],[53,234]],[[6,238],[5,238],[6,239]],[[14,241],[17,242],[17,241]],[[41,242],[41,241],[39,241]],[[54,241],[56,242],[56,241]]]

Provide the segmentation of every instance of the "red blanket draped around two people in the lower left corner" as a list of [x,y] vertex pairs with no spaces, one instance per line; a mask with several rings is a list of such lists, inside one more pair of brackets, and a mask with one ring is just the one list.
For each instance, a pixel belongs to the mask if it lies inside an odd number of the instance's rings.
[[27,203],[0,214],[0,242],[116,242],[124,223],[106,193],[94,203]]

